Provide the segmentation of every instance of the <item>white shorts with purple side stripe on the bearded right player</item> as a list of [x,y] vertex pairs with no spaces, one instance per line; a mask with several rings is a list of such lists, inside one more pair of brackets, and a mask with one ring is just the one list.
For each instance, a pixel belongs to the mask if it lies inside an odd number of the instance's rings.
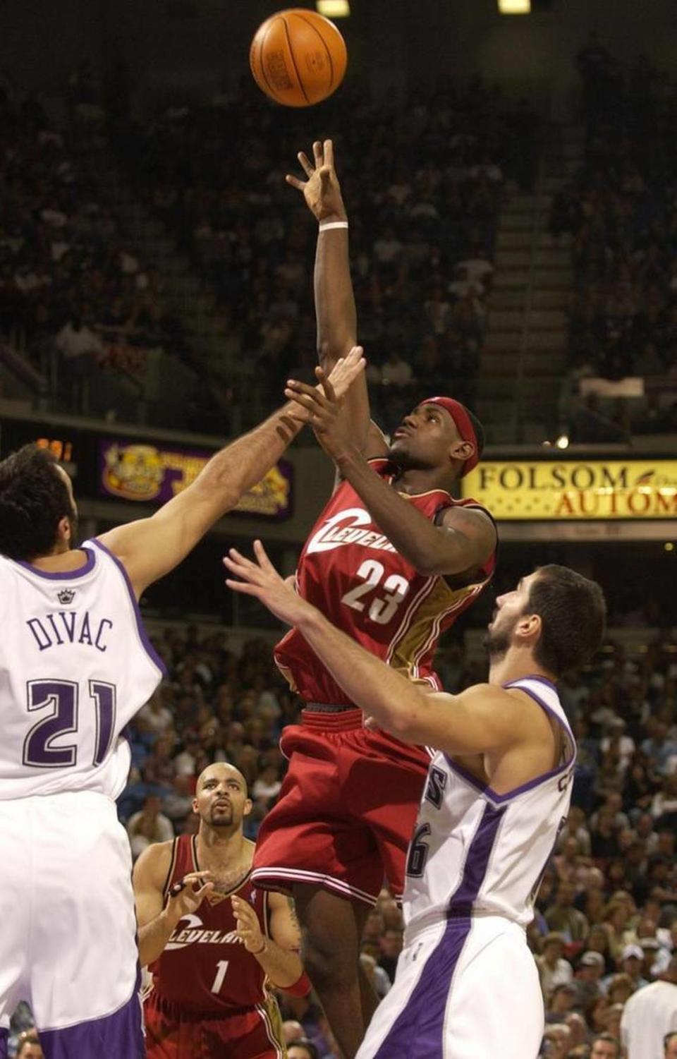
[[543,1030],[524,930],[500,916],[449,919],[402,950],[356,1059],[535,1059]]

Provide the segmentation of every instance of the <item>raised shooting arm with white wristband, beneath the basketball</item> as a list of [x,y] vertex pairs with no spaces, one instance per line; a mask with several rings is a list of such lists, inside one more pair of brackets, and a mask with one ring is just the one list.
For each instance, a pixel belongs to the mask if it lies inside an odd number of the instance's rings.
[[[331,140],[313,143],[313,162],[304,151],[299,151],[297,157],[307,180],[288,176],[287,182],[303,192],[309,210],[319,223],[314,272],[317,353],[322,367],[329,374],[336,360],[345,357],[358,340],[358,315],[350,279],[348,215],[336,176]],[[369,456],[383,455],[385,443],[370,431],[369,395],[364,377],[351,389],[347,414],[359,450]]]

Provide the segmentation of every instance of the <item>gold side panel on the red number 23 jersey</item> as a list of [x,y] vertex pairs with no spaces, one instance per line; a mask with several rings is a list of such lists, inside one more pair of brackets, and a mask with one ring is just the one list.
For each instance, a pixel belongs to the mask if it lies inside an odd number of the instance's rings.
[[[459,610],[469,597],[477,595],[486,579],[461,588],[452,588],[443,577],[435,577],[432,588],[410,612],[405,628],[398,630],[388,649],[387,663],[409,680],[420,680],[419,664],[438,640],[442,623]],[[427,587],[427,586],[426,586]]]

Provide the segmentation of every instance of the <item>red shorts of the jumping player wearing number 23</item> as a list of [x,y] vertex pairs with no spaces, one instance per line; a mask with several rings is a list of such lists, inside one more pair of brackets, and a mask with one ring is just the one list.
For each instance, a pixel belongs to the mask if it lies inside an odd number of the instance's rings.
[[387,879],[398,900],[429,756],[363,726],[362,711],[304,711],[280,740],[290,759],[254,855],[258,886],[324,886],[373,904]]

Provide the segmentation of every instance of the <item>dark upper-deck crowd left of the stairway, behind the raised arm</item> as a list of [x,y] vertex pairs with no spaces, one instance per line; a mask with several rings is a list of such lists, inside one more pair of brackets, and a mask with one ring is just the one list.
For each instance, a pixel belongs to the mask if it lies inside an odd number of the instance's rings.
[[[256,418],[315,359],[316,226],[285,183],[310,148],[306,123],[249,84],[132,121],[124,71],[100,80],[86,64],[66,116],[56,131],[37,100],[0,97],[5,335],[57,375],[61,407],[124,418],[141,389],[151,421],[222,431],[234,406]],[[450,80],[406,110],[343,92],[322,124],[350,211],[377,417],[397,421],[431,385],[473,403],[504,185],[533,186],[536,113],[497,86]],[[169,236],[155,239],[158,259],[140,211]],[[178,303],[166,289],[175,255],[188,267]],[[216,363],[191,334],[197,303],[217,328]],[[180,406],[161,384],[169,366],[183,371]]]

